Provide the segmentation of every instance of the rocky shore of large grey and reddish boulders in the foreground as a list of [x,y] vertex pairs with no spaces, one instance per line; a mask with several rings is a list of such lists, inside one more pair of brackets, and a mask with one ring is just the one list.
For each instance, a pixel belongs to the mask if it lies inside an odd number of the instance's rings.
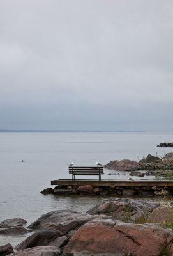
[[[173,255],[172,215],[172,201],[131,198],[105,200],[86,213],[52,211],[26,228],[34,233],[15,248],[10,243],[0,246],[0,255]],[[9,220],[1,227],[4,222]],[[13,219],[10,222],[20,227]]]

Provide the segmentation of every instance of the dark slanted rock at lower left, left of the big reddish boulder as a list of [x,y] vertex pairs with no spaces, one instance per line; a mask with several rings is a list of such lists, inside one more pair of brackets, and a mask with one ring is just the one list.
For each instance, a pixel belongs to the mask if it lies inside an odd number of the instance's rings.
[[49,246],[50,242],[60,236],[63,236],[63,234],[55,228],[45,228],[27,237],[24,241],[15,246],[15,250],[19,251],[36,246]]

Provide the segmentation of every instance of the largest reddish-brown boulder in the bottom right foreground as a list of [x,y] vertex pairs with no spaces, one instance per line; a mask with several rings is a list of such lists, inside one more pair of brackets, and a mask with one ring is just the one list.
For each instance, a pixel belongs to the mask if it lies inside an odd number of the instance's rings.
[[[94,255],[158,256],[172,250],[173,230],[151,223],[115,225],[88,222],[80,227],[65,246],[63,253],[91,252]],[[168,247],[169,246],[169,247]],[[116,254],[117,253],[117,254]],[[129,254],[128,254],[129,253]]]

